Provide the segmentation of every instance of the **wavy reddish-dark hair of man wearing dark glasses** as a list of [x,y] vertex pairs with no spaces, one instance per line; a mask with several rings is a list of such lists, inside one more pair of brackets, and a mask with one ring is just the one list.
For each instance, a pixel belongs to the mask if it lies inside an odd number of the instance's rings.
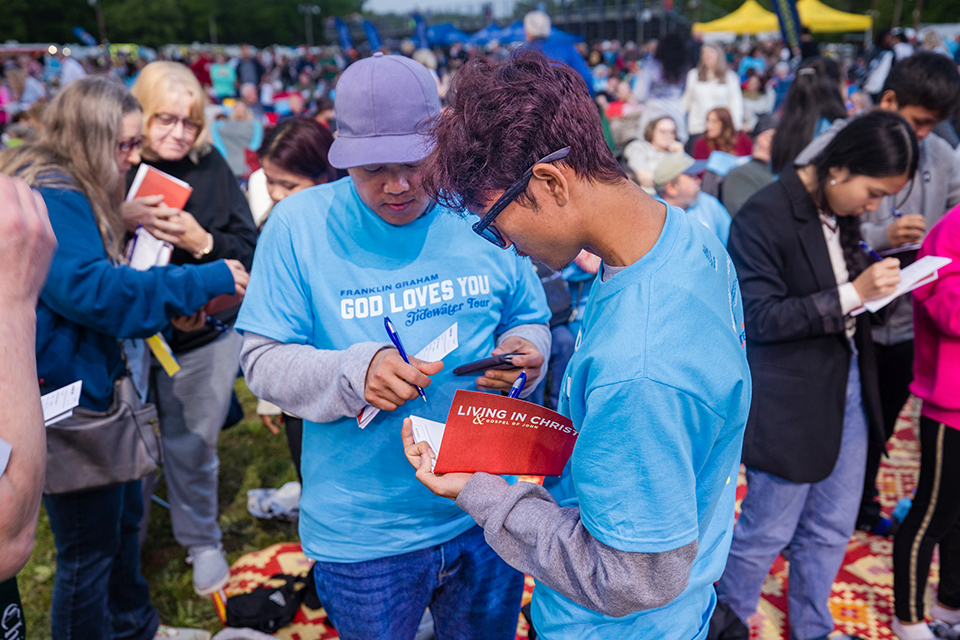
[[[423,171],[427,193],[446,207],[480,211],[537,160],[568,146],[562,162],[578,176],[626,180],[583,78],[536,49],[503,62],[470,60],[448,95],[431,130],[436,151]],[[537,207],[528,192],[517,202]]]

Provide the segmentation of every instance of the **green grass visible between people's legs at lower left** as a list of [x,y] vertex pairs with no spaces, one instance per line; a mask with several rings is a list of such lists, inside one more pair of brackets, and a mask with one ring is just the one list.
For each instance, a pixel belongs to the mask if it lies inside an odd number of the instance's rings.
[[[279,487],[297,476],[283,434],[272,435],[257,418],[256,399],[242,380],[237,394],[245,417],[237,426],[220,436],[220,526],[227,560],[233,562],[250,551],[277,542],[299,540],[295,524],[257,520],[247,513],[247,490]],[[166,498],[161,482],[156,494]],[[177,627],[202,627],[211,632],[222,627],[213,605],[193,592],[190,566],[184,561],[186,549],[180,547],[170,529],[166,509],[154,503],[150,508],[150,528],[143,547],[143,575],[150,585],[153,604],[160,620]],[[50,596],[56,553],[46,512],[41,509],[37,542],[30,562],[20,572],[20,596],[27,618],[27,637],[50,638]]]

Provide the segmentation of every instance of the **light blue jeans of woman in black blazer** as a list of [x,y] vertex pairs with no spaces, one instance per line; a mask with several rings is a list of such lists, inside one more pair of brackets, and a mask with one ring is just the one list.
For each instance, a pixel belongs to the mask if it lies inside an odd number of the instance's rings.
[[790,561],[791,637],[811,640],[833,631],[827,603],[857,521],[868,439],[860,370],[853,357],[840,453],[831,474],[801,484],[747,469],[747,495],[717,583],[720,600],[742,620],[756,612],[770,565],[783,552]]

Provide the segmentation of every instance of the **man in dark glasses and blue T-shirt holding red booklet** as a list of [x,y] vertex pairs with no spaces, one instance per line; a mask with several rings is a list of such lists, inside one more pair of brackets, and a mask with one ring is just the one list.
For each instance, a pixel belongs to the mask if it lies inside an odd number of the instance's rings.
[[704,638],[750,406],[733,265],[713,233],[626,178],[569,68],[532,51],[475,60],[451,95],[427,192],[551,268],[582,249],[603,263],[560,392],[579,431],[560,479],[435,475],[409,424],[407,459],[536,579],[541,637]]

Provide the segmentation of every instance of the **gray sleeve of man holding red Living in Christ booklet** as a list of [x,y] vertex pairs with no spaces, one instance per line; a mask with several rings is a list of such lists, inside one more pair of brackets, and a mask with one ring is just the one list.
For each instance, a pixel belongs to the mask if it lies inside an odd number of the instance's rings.
[[578,508],[561,507],[531,482],[510,486],[499,476],[477,473],[457,506],[483,527],[487,543],[512,567],[608,616],[670,603],[686,589],[697,557],[697,540],[663,553],[609,547],[586,530]]

